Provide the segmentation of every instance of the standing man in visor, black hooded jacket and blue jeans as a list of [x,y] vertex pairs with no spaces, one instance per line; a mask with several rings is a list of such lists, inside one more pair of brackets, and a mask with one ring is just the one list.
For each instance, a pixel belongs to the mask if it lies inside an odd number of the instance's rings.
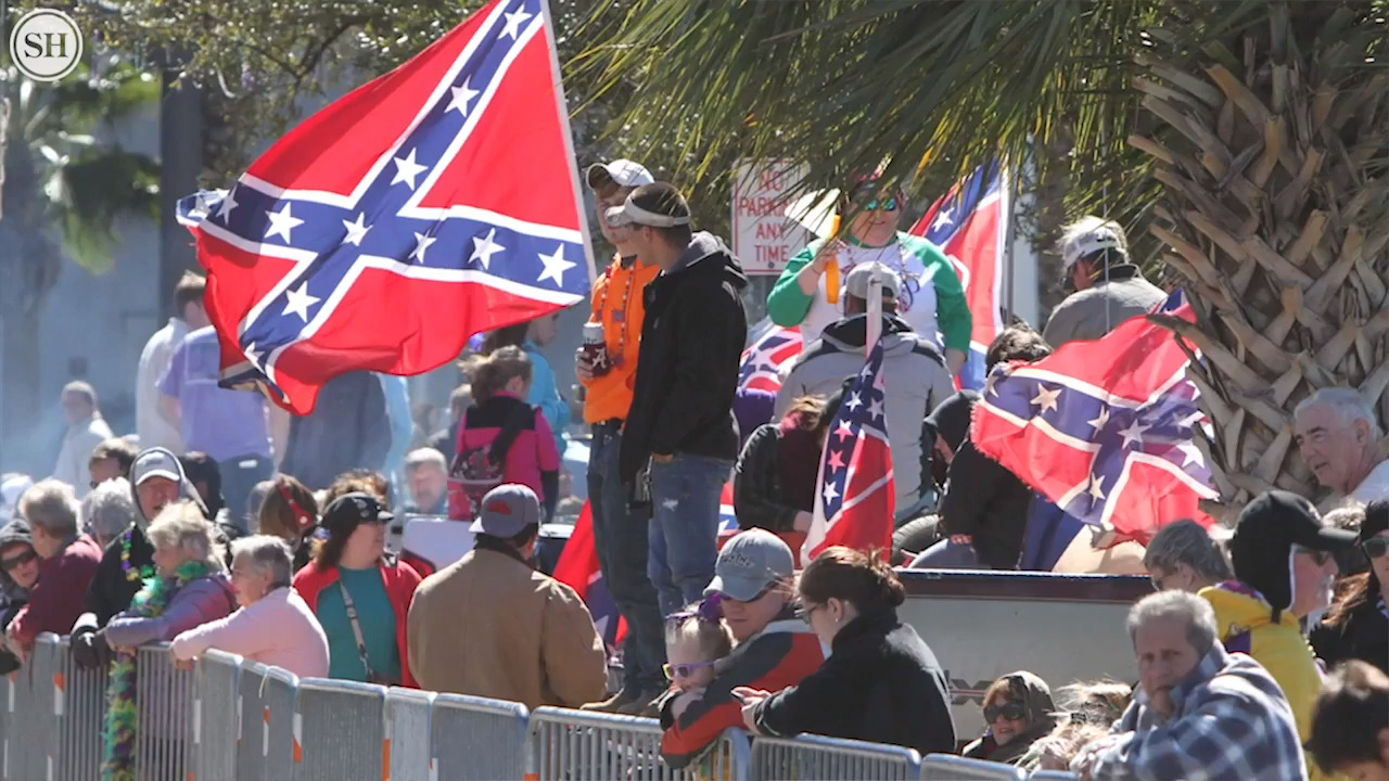
[[618,472],[650,491],[647,573],[667,616],[699,602],[718,557],[718,499],[738,457],[733,392],[747,339],[747,277],[721,239],[690,231],[685,196],[643,185],[608,210],[636,254],[661,268],[646,286],[642,361]]

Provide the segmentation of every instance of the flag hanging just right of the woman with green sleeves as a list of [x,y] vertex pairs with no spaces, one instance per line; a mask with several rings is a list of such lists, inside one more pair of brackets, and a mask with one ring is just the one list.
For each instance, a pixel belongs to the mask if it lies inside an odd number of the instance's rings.
[[1003,331],[1003,264],[1010,214],[1007,168],[992,163],[951,188],[910,231],[940,247],[964,285],[974,334],[970,357],[956,379],[961,388],[983,388],[985,353]]

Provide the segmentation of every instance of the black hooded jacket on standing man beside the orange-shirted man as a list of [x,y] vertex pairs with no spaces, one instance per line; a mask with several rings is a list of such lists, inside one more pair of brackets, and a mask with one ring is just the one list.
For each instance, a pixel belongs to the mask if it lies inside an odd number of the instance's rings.
[[642,360],[619,456],[624,482],[633,482],[653,453],[738,457],[732,410],[747,340],[746,286],[738,258],[706,232],[646,286]]

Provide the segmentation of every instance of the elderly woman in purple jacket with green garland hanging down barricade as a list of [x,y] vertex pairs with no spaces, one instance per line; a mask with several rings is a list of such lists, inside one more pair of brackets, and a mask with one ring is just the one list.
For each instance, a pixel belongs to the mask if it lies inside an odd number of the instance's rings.
[[131,607],[107,624],[107,642],[117,652],[107,689],[106,762],[103,778],[135,778],[135,649],[171,641],[179,632],[222,618],[236,607],[232,584],[213,543],[213,525],[190,502],[167,504],[146,536],[154,545],[156,575],[144,581]]

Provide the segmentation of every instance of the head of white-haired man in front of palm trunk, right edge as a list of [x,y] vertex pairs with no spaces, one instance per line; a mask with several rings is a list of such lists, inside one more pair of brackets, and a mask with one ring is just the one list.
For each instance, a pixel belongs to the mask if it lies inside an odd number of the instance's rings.
[[1293,434],[1307,468],[1332,491],[1332,503],[1389,499],[1383,428],[1354,388],[1322,388],[1293,411]]

